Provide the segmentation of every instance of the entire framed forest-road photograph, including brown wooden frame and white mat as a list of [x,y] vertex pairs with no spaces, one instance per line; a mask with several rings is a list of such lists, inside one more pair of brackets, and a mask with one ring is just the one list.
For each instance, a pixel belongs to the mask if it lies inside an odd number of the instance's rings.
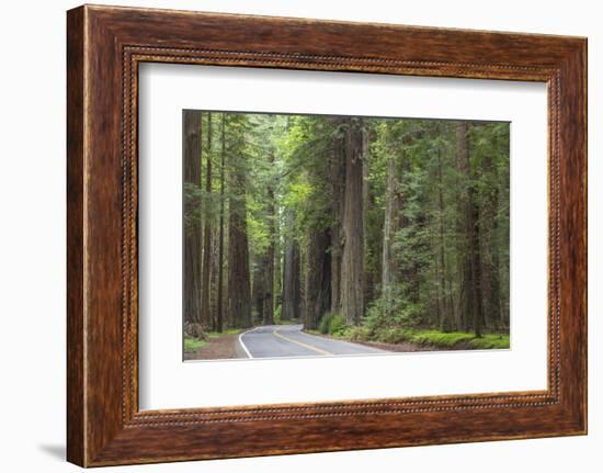
[[587,432],[587,41],[68,12],[68,460]]

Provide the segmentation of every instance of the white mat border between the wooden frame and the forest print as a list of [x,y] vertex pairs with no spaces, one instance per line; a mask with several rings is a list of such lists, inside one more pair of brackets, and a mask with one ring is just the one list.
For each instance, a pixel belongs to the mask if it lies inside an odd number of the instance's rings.
[[[546,388],[546,85],[153,64],[139,91],[140,408]],[[183,363],[183,109],[511,122],[511,350]]]

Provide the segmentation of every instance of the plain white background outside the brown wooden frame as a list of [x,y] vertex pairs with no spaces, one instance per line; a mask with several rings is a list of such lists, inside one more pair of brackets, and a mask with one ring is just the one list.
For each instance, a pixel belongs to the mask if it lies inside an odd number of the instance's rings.
[[[589,36],[590,435],[445,447],[115,468],[148,472],[598,472],[603,463],[602,15],[588,0],[339,2],[129,1],[207,11],[379,21]],[[0,468],[68,472],[65,439],[65,10],[70,1],[8,2],[0,19]],[[599,345],[598,345],[599,342]]]

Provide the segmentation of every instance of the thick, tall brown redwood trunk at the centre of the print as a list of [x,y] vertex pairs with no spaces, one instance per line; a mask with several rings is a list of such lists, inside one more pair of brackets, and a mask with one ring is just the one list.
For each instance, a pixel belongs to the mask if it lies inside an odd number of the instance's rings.
[[357,325],[364,311],[364,235],[362,127],[355,120],[349,121],[345,145],[341,307],[346,323]]

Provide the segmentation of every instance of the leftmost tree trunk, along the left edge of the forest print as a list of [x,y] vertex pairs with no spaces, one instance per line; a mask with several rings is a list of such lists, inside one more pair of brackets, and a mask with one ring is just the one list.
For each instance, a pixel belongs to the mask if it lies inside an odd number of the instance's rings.
[[[184,111],[184,185],[201,191],[201,112]],[[201,275],[202,275],[202,232],[196,199],[185,199],[184,204],[184,319],[202,323]]]

